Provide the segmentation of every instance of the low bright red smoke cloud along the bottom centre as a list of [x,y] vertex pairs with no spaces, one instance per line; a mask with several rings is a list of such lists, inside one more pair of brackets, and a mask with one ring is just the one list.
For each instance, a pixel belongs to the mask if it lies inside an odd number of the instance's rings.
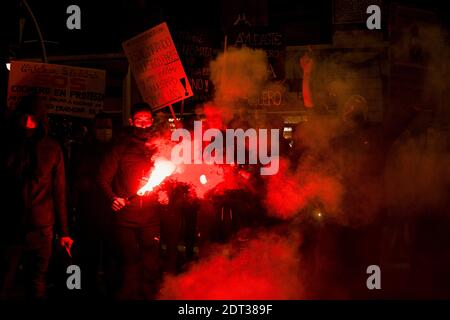
[[300,299],[299,239],[261,234],[243,248],[231,244],[179,276],[167,276],[159,299]]

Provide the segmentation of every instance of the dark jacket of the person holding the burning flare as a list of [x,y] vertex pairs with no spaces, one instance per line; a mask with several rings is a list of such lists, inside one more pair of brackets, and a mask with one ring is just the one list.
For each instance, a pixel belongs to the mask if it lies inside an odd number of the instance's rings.
[[[156,148],[151,143],[128,135],[106,154],[100,167],[98,182],[112,203],[114,197],[136,195],[153,169],[152,157]],[[158,227],[160,216],[157,194],[135,197],[131,203],[115,213],[115,223],[129,227]]]

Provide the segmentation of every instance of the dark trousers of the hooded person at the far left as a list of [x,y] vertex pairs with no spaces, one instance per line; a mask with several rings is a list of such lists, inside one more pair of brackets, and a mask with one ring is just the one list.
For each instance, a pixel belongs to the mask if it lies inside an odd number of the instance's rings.
[[[46,276],[52,254],[53,228],[27,232],[24,243],[2,243],[0,247],[0,298],[12,299],[25,293],[31,298],[46,297]],[[23,262],[25,291],[18,286],[18,269]]]

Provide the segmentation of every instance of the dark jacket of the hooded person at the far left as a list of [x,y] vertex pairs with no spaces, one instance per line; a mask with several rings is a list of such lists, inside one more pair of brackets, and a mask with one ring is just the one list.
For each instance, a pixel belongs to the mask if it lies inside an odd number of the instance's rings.
[[[1,164],[3,236],[20,237],[27,231],[56,223],[61,236],[68,235],[64,157],[59,144],[45,136],[21,148],[5,148]],[[33,158],[33,169],[15,163]]]

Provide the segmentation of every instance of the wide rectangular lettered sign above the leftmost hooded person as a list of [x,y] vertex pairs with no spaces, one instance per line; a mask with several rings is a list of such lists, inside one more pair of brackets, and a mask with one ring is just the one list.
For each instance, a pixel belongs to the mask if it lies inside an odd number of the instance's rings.
[[105,71],[47,63],[13,61],[8,81],[8,107],[37,93],[49,113],[93,118],[103,109]]

